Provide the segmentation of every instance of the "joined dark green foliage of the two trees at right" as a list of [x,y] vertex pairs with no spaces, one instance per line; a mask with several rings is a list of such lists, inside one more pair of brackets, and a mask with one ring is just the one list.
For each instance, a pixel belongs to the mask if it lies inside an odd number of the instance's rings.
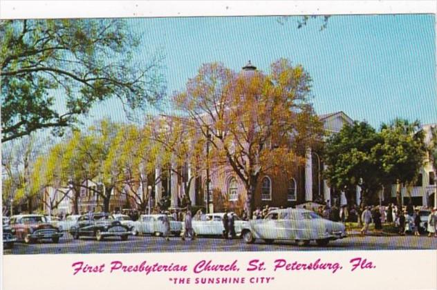
[[382,124],[380,132],[354,122],[328,139],[324,175],[337,189],[361,186],[363,195],[375,195],[384,185],[415,182],[424,157],[424,133],[417,121],[395,119]]

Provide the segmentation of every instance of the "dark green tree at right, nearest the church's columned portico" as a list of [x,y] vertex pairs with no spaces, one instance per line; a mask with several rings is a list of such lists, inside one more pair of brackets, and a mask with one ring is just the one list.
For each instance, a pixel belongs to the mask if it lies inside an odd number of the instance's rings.
[[346,124],[331,135],[324,148],[324,176],[332,187],[341,190],[362,189],[362,203],[380,189],[382,169],[373,148],[381,142],[375,129],[366,122]]

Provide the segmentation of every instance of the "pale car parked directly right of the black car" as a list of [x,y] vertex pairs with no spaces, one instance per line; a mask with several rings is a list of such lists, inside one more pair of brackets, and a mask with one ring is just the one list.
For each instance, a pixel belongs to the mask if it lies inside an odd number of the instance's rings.
[[[133,234],[162,235],[165,231],[164,223],[162,222],[164,216],[165,214],[140,215],[140,218],[136,222],[133,222]],[[170,232],[174,235],[180,235],[180,232],[182,231],[182,222],[174,220],[171,215],[167,215],[167,217],[170,223]]]

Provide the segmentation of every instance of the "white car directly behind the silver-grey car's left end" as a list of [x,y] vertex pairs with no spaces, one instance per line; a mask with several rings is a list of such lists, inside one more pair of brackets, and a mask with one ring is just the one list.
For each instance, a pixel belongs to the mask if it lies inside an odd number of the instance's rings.
[[[225,213],[207,213],[196,215],[192,221],[193,231],[196,235],[221,235],[225,231],[223,226],[223,215]],[[228,213],[230,215],[230,213]],[[248,222],[241,220],[238,215],[234,215],[234,228],[237,236],[241,235],[243,228],[248,228]]]

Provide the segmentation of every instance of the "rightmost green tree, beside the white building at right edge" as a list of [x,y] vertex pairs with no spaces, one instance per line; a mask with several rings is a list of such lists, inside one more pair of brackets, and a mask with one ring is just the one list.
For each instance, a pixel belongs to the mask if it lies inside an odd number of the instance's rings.
[[411,186],[416,182],[426,155],[425,134],[417,120],[394,119],[382,124],[382,143],[375,146],[384,179],[388,184],[398,184],[396,197],[402,204],[400,186]]

